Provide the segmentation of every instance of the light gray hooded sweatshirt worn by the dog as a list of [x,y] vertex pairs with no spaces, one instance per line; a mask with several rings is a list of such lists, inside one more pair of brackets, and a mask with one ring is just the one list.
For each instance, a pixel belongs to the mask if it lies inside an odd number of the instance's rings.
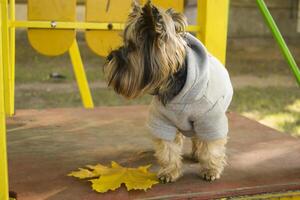
[[157,97],[150,105],[148,127],[155,137],[174,140],[177,130],[202,140],[227,136],[226,110],[233,89],[226,68],[201,42],[187,34],[187,80],[166,106]]

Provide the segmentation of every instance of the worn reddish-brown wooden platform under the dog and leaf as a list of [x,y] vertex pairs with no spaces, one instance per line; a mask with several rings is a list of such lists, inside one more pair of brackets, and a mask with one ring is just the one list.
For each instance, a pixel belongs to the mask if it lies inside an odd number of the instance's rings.
[[197,164],[188,159],[178,182],[148,192],[121,188],[103,195],[66,176],[112,160],[125,166],[153,163],[156,170],[146,116],[144,106],[18,111],[8,120],[10,189],[21,200],[212,199],[300,190],[300,140],[234,113],[229,114],[229,166],[216,182],[201,180]]

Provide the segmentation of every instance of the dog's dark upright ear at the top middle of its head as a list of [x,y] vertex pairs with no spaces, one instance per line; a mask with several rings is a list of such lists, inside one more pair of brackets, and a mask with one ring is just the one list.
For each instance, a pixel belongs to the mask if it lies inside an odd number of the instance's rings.
[[164,35],[166,28],[163,17],[158,8],[151,3],[151,0],[147,1],[142,8],[142,11],[145,22],[144,25],[147,27],[148,31],[154,32],[160,36]]

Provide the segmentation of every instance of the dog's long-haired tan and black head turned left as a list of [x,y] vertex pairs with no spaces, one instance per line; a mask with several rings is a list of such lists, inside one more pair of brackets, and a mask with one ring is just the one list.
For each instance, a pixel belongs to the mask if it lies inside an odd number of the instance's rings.
[[127,98],[167,90],[170,77],[184,63],[185,17],[162,10],[148,1],[134,1],[124,32],[123,46],[107,57],[108,85]]

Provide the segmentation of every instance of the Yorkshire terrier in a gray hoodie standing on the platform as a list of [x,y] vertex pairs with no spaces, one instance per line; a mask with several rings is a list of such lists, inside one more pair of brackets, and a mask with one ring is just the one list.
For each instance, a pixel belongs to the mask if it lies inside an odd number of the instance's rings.
[[161,182],[182,174],[184,136],[200,176],[213,181],[226,165],[226,110],[233,90],[225,67],[185,31],[184,15],[148,1],[134,1],[123,46],[107,57],[108,85],[128,99],[153,95],[148,127],[153,133]]

